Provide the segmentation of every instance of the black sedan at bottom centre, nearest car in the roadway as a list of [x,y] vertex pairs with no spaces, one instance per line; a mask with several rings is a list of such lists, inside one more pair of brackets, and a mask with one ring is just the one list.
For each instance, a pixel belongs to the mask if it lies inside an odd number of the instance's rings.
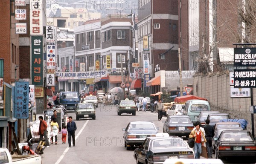
[[146,138],[142,146],[134,150],[134,158],[137,164],[163,164],[169,158],[194,159],[194,153],[182,138],[167,134]]

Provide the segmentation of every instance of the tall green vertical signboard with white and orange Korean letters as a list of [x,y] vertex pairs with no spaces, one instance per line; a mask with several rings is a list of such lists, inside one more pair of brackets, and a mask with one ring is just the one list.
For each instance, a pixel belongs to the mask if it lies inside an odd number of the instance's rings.
[[31,36],[32,85],[43,86],[43,36]]

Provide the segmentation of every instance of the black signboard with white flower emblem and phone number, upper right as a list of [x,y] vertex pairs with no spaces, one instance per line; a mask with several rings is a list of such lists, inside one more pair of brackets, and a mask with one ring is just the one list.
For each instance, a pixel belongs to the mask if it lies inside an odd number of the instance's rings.
[[256,66],[256,48],[234,48],[234,66]]

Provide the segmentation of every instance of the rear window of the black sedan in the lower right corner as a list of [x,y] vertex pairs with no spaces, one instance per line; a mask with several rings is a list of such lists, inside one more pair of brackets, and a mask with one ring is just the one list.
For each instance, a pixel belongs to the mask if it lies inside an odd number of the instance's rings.
[[253,141],[248,132],[224,132],[221,141]]

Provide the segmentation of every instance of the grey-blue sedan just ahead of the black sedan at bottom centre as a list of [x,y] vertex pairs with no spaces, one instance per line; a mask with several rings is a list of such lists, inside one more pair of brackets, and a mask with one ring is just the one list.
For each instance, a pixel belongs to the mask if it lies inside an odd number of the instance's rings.
[[133,121],[130,122],[126,128],[122,129],[124,132],[125,147],[130,150],[132,147],[141,145],[145,138],[154,137],[157,134],[157,128],[151,121]]

